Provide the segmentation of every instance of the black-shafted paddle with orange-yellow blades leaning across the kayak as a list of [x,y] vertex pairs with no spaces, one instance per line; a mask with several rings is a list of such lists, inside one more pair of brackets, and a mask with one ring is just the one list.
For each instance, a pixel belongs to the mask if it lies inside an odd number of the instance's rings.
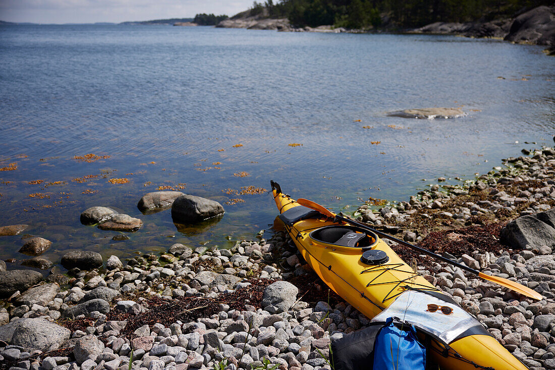
[[470,268],[470,267],[468,267],[468,266],[466,266],[466,265],[462,265],[461,263],[458,263],[458,262],[456,262],[456,261],[453,261],[453,260],[451,260],[451,259],[448,259],[447,257],[443,257],[443,256],[441,256],[441,255],[438,255],[438,254],[436,254],[436,253],[430,252],[430,251],[428,251],[428,250],[426,250],[426,249],[423,249],[423,248],[421,248],[421,247],[418,247],[418,246],[416,246],[416,245],[407,243],[407,242],[404,241],[404,240],[397,239],[396,237],[393,237],[393,236],[391,236],[391,235],[387,235],[387,234],[385,234],[384,232],[381,232],[381,231],[377,231],[377,230],[375,230],[375,229],[372,229],[371,227],[367,226],[366,224],[362,224],[362,222],[349,220],[349,219],[347,219],[346,217],[342,217],[342,216],[336,215],[334,212],[330,211],[330,210],[327,209],[326,207],[324,207],[324,206],[322,206],[322,205],[320,205],[320,204],[317,204],[316,202],[313,202],[313,201],[311,201],[311,200],[300,198],[300,199],[297,199],[297,203],[299,203],[299,204],[302,205],[302,206],[308,207],[308,208],[310,208],[310,209],[319,211],[322,215],[327,216],[327,217],[330,217],[331,219],[336,219],[336,220],[338,220],[338,221],[346,222],[347,224],[351,224],[351,225],[354,225],[354,226],[359,226],[359,227],[361,227],[362,229],[366,229],[366,230],[368,230],[368,231],[374,232],[375,234],[377,234],[377,235],[379,235],[379,236],[381,236],[381,237],[385,237],[385,238],[387,238],[387,239],[389,239],[389,240],[395,241],[395,242],[397,242],[398,244],[401,244],[401,245],[404,245],[404,246],[406,246],[406,247],[412,248],[412,249],[414,249],[414,250],[416,250],[416,251],[418,251],[418,252],[421,252],[421,253],[423,253],[423,254],[426,254],[426,255],[428,255],[428,256],[431,256],[431,257],[433,257],[433,258],[435,258],[435,259],[441,260],[441,261],[443,261],[443,262],[451,263],[451,265],[457,266],[458,268],[461,268],[462,270],[466,270],[466,271],[468,271],[468,272],[470,272],[470,273],[473,273],[474,275],[477,275],[478,277],[481,277],[481,278],[483,278],[484,280],[488,280],[488,281],[495,282],[495,283],[497,283],[497,284],[499,284],[499,285],[501,285],[501,286],[507,287],[507,288],[509,288],[509,289],[511,289],[511,290],[513,290],[513,291],[516,291],[516,292],[518,292],[518,293],[521,293],[521,294],[524,295],[524,296],[533,298],[534,300],[541,300],[541,299],[542,299],[542,295],[541,295],[540,293],[538,293],[538,292],[536,292],[536,291],[534,291],[534,290],[532,290],[532,289],[530,289],[530,288],[528,288],[528,287],[526,287],[526,286],[523,286],[522,284],[519,284],[519,283],[517,283],[517,282],[511,281],[511,280],[508,280],[508,279],[506,279],[506,278],[502,278],[502,277],[499,277],[499,276],[486,275],[486,274],[483,273],[483,272],[480,272],[480,271],[478,271],[478,270],[474,270],[473,268]]

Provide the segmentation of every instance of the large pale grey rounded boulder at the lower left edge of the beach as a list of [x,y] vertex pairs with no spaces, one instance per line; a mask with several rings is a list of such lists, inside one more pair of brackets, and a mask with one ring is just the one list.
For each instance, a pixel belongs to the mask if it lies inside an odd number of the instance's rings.
[[71,331],[42,318],[16,318],[0,326],[0,340],[27,351],[53,351],[69,339]]

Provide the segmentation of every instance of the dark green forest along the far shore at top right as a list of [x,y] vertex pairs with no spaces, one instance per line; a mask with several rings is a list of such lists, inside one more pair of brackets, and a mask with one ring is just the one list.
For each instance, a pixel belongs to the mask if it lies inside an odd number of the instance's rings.
[[381,25],[382,16],[398,28],[420,27],[433,22],[469,22],[511,18],[552,0],[279,0],[254,2],[251,15],[287,17],[297,27],[369,29]]

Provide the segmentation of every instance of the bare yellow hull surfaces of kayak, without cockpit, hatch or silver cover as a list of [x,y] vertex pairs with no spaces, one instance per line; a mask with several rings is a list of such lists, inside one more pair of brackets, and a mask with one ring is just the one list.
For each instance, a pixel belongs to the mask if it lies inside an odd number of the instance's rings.
[[[288,195],[282,194],[279,186],[273,189],[273,196],[280,214],[299,206]],[[388,257],[387,263],[369,266],[361,261],[360,248],[327,244],[315,238],[316,230],[338,225],[345,226],[320,215],[320,217],[298,220],[285,227],[302,257],[322,281],[366,317],[373,318],[379,315],[407,289],[439,293],[436,287],[415,273],[411,266],[402,261],[384,241],[371,232],[366,234],[371,235],[374,242],[367,249],[384,252]],[[446,370],[527,369],[495,338],[487,334],[485,332],[485,335],[473,334],[456,338],[448,343],[450,349],[447,357],[441,341],[432,339],[428,350],[432,351],[433,358],[440,368]]]

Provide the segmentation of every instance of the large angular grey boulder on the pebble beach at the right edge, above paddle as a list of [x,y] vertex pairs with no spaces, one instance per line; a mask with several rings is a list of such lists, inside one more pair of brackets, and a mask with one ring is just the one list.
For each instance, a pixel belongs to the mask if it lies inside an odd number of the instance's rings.
[[512,248],[555,246],[555,229],[533,216],[521,216],[501,229],[499,241]]

